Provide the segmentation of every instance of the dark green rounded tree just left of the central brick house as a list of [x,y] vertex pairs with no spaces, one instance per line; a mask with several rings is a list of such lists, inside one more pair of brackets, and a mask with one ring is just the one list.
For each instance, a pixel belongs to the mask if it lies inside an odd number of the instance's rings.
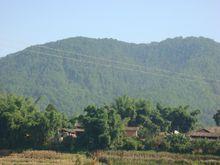
[[78,137],[86,149],[115,148],[120,144],[123,133],[121,118],[110,107],[88,106],[85,115],[79,116],[85,133]]

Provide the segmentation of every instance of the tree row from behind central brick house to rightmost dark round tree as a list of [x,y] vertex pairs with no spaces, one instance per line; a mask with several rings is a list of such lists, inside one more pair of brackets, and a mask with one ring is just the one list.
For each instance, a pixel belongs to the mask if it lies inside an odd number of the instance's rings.
[[118,97],[112,107],[128,121],[128,126],[141,126],[140,134],[144,137],[175,130],[188,132],[194,128],[199,114],[199,110],[190,110],[189,106],[154,106],[150,101],[128,96]]

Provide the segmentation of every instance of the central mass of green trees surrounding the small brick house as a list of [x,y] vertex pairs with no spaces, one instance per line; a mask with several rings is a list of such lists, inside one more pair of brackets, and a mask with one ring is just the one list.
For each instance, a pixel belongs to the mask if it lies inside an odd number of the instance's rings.
[[[197,111],[188,110],[189,106],[178,108],[153,106],[143,99],[134,99],[122,96],[115,99],[111,105],[102,107],[88,106],[85,114],[80,115],[78,122],[85,129],[82,135],[77,136],[75,142],[67,138],[64,143],[71,149],[142,149],[142,139],[152,139],[160,132],[185,133],[193,129],[197,122]],[[164,115],[166,114],[166,115]],[[176,120],[178,119],[178,121]],[[182,125],[185,126],[182,126]],[[125,126],[139,126],[139,138],[125,135]],[[183,145],[184,145],[183,141]],[[68,145],[65,145],[68,147]],[[175,146],[172,146],[175,149]]]

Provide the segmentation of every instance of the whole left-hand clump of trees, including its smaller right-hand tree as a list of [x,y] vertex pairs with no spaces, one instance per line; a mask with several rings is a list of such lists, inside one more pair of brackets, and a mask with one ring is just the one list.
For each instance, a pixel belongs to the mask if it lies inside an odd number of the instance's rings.
[[30,98],[0,95],[0,148],[42,147],[67,119],[52,105],[40,111]]

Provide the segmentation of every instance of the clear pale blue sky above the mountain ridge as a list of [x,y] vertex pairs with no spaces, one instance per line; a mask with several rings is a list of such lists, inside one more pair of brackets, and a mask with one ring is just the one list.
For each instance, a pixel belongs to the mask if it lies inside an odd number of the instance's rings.
[[0,57],[85,36],[149,43],[177,36],[220,42],[220,0],[0,0]]

